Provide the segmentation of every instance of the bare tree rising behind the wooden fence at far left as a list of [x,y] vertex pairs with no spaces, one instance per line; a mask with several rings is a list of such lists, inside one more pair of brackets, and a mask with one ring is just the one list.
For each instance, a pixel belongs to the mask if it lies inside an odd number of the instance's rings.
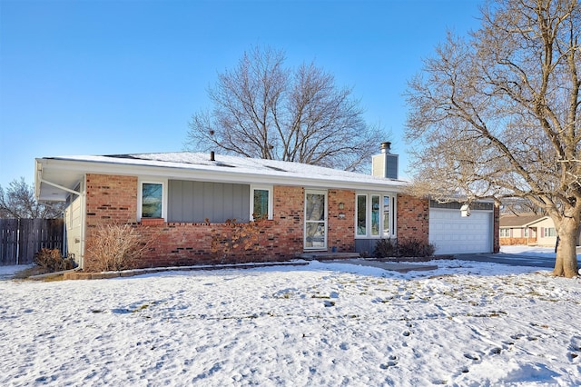
[[63,215],[64,203],[38,203],[34,188],[26,184],[25,178],[13,180],[6,190],[0,185],[0,218],[53,219]]

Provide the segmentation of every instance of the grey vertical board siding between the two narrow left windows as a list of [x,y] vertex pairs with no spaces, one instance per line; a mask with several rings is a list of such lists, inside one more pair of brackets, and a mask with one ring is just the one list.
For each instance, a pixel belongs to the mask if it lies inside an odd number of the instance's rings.
[[250,185],[170,180],[168,222],[248,222]]

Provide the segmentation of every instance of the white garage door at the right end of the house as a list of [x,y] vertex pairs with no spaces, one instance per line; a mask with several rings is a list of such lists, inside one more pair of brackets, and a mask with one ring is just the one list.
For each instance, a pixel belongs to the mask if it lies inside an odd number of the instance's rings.
[[492,212],[472,211],[463,217],[460,210],[430,208],[429,243],[437,254],[491,253]]

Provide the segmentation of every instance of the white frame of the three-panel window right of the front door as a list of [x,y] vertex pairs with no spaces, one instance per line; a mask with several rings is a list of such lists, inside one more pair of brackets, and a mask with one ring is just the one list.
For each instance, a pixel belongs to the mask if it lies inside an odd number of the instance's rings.
[[[365,226],[365,234],[359,234],[358,233],[358,224],[357,224],[357,216],[359,213],[358,210],[358,197],[359,196],[365,196],[365,205],[366,205],[366,211],[365,211],[365,222],[366,222],[366,226]],[[372,213],[373,213],[373,209],[372,209],[372,200],[371,198],[373,196],[379,196],[379,234],[378,235],[373,235],[372,234]],[[383,233],[383,230],[385,229],[384,227],[384,222],[383,222],[383,200],[384,197],[388,196],[389,197],[389,221],[390,221],[390,225],[389,225],[389,234],[385,234]],[[397,214],[397,193],[390,193],[390,192],[358,192],[355,193],[355,238],[356,239],[382,239],[382,238],[396,238],[397,237],[397,226],[398,226],[398,214]]]

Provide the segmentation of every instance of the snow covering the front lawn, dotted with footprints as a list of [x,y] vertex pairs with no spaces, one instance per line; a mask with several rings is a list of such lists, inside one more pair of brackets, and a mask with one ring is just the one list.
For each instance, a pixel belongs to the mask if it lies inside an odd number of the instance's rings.
[[581,280],[434,264],[1,281],[0,385],[581,384]]

